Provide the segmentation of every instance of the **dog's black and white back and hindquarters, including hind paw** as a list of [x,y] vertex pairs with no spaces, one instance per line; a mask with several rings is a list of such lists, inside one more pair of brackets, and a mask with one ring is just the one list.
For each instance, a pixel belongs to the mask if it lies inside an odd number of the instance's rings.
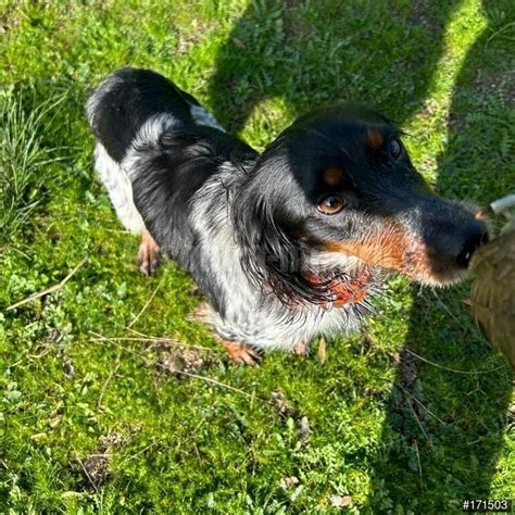
[[[97,138],[96,168],[122,224],[143,235],[143,254],[159,254],[159,248],[152,251],[159,244],[189,269],[191,199],[225,163],[252,160],[255,152],[227,135],[191,95],[148,70],[108,76],[87,112]],[[139,261],[145,274],[155,267],[152,259],[143,266]]]

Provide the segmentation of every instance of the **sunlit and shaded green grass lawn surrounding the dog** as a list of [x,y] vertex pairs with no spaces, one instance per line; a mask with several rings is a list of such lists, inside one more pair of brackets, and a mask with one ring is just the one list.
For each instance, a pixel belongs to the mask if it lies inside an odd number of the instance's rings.
[[394,278],[323,365],[233,366],[188,319],[186,274],[136,273],[84,113],[127,64],[173,77],[258,149],[313,106],[370,102],[438,191],[486,204],[515,184],[515,8],[483,3],[0,8],[1,513],[459,513],[515,498],[513,376],[462,302],[468,285]]

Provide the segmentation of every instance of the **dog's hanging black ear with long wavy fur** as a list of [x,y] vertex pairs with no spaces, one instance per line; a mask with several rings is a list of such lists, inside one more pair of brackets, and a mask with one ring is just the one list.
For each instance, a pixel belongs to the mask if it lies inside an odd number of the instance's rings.
[[318,302],[313,285],[302,274],[302,244],[293,231],[278,221],[271,198],[252,187],[242,188],[237,197],[233,204],[233,223],[241,265],[253,286],[285,303]]

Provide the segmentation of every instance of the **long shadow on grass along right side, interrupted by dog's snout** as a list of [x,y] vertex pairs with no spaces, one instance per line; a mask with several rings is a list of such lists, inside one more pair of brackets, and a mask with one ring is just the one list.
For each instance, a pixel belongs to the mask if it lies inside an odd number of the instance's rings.
[[[506,104],[513,102],[515,59],[505,41],[503,48],[502,39],[494,37],[513,25],[513,18],[502,14],[510,12],[515,14],[507,2],[483,7],[488,26],[453,86],[448,145],[438,158],[437,191],[480,205],[506,194],[515,184],[503,149],[503,140],[513,139],[514,113]],[[381,436],[381,462],[388,466],[376,470],[373,507],[402,499],[412,510],[460,511],[464,499],[492,497],[511,378],[470,323],[468,310],[460,305],[467,294],[463,287],[415,300]],[[411,351],[465,373],[420,363]]]

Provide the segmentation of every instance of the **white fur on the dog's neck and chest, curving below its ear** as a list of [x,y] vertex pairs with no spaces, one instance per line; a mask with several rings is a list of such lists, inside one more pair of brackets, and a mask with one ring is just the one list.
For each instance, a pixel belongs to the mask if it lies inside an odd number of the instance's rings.
[[[240,249],[235,240],[225,202],[226,190],[235,180],[228,164],[209,179],[192,202],[191,222],[200,235],[202,254],[215,271],[225,304],[225,317],[215,311],[209,322],[224,339],[249,343],[261,349],[293,351],[299,342],[311,342],[319,335],[349,332],[361,319],[354,306],[324,310],[318,305],[288,309],[277,298],[265,299],[249,281],[240,264]],[[293,316],[291,316],[293,315]]]

